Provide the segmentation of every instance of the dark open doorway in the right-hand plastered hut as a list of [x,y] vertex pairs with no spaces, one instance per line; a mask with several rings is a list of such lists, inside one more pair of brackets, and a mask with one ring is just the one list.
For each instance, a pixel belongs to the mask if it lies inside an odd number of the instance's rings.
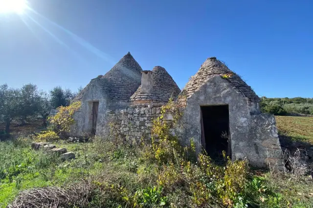
[[212,159],[231,156],[228,105],[201,106],[201,139]]

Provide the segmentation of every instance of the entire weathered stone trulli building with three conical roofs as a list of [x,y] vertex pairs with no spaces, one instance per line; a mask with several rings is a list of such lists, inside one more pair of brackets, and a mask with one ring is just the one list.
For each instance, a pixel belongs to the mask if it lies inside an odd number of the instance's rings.
[[[281,163],[274,116],[261,113],[260,98],[251,87],[215,57],[208,58],[180,92],[163,67],[143,71],[128,53],[74,99],[82,107],[74,114],[72,132],[102,137],[114,132],[127,143],[149,140],[152,121],[171,97],[185,103],[173,130],[182,144],[192,138],[198,152],[203,148],[215,157],[225,151],[256,167]],[[168,114],[163,119],[173,118]]]

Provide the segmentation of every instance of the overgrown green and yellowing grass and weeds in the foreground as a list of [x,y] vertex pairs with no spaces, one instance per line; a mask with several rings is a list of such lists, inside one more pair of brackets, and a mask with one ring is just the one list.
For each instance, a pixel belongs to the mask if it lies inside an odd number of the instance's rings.
[[[76,153],[75,160],[61,162],[54,155],[31,150],[28,143],[1,142],[0,207],[21,190],[20,202],[27,191],[40,192],[31,188],[67,190],[86,181],[90,192],[82,197],[87,197],[84,207],[89,208],[306,208],[313,203],[309,176],[294,178],[287,173],[250,170],[246,161],[227,158],[226,165],[219,166],[205,153],[191,156],[192,148],[175,142],[155,145],[158,148],[154,151],[149,145],[130,147],[99,138],[92,143],[59,144]],[[46,190],[57,195],[58,189]],[[34,196],[34,202],[47,202]],[[64,206],[79,204],[72,201]]]

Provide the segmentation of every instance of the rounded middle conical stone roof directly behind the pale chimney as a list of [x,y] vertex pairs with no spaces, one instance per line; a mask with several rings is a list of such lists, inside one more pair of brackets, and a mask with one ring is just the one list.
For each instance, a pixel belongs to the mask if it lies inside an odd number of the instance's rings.
[[170,97],[176,98],[180,89],[176,82],[173,80],[167,71],[161,67],[156,66],[152,70],[153,76],[153,87],[152,92],[145,94],[141,92],[141,85],[131,96],[131,101],[134,103],[166,103],[169,101]]

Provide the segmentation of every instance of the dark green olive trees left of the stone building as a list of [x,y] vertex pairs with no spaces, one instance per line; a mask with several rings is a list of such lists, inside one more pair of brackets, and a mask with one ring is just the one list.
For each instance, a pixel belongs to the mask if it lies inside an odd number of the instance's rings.
[[68,106],[80,90],[81,87],[77,92],[72,92],[57,86],[45,92],[31,83],[21,88],[0,85],[0,124],[4,124],[4,129],[0,129],[0,136],[10,132],[12,122],[24,125],[27,121],[41,117],[46,125],[46,118],[51,109]]

